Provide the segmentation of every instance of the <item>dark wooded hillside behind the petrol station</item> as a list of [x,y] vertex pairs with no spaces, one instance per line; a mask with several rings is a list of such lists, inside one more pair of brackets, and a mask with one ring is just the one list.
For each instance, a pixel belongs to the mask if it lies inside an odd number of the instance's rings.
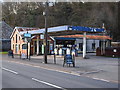
[[[2,3],[2,20],[11,27],[44,28],[44,3]],[[115,2],[50,3],[48,25],[77,25],[102,28],[103,23],[113,41],[120,40],[119,5]],[[119,20],[118,20],[119,19]]]

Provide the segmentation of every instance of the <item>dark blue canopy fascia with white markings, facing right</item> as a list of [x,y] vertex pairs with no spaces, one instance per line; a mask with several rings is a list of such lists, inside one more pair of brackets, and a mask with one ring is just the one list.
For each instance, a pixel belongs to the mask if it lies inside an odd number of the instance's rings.
[[76,30],[83,32],[104,32],[103,28],[91,28],[91,27],[82,27],[82,26],[69,26],[68,30]]

